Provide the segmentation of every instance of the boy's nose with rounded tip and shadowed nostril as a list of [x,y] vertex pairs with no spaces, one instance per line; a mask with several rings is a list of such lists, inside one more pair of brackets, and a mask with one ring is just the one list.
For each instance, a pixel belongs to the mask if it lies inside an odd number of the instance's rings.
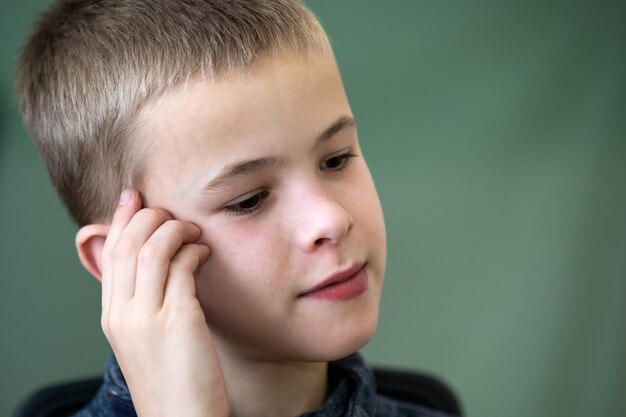
[[296,229],[305,252],[341,243],[354,226],[354,219],[340,202],[323,190],[309,190],[301,196]]

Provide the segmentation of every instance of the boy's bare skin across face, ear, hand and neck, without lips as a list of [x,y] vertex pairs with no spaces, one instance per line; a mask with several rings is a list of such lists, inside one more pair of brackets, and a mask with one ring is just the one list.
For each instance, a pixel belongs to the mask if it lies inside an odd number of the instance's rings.
[[[319,408],[327,362],[374,334],[385,267],[382,211],[332,53],[190,82],[147,103],[138,126],[143,200],[123,193],[111,225],[82,228],[77,247],[102,280],[102,326],[139,415]],[[358,296],[303,296],[362,264]]]

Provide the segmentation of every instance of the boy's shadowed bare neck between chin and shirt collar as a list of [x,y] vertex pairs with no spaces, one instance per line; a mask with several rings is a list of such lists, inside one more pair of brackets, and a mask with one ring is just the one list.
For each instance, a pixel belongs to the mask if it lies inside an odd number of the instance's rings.
[[326,398],[327,362],[277,362],[218,349],[230,417],[292,417],[319,409]]

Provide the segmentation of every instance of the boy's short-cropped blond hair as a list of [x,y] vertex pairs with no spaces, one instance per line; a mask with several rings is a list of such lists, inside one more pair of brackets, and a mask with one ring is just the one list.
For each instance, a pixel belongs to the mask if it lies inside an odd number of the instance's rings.
[[147,100],[327,42],[297,0],[61,0],[22,53],[20,108],[74,220],[106,222],[122,189],[139,187],[133,122]]

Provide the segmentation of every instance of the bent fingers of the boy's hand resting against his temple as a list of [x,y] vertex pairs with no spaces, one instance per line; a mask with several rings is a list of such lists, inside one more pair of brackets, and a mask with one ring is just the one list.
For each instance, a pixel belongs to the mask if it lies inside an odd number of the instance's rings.
[[190,284],[184,284],[183,290],[175,286],[177,294],[195,296],[193,273],[207,259],[209,249],[188,245],[201,233],[199,227],[174,220],[165,210],[141,209],[136,191],[122,193],[103,249],[103,318],[111,304],[131,299],[158,308],[173,275],[189,277]]

